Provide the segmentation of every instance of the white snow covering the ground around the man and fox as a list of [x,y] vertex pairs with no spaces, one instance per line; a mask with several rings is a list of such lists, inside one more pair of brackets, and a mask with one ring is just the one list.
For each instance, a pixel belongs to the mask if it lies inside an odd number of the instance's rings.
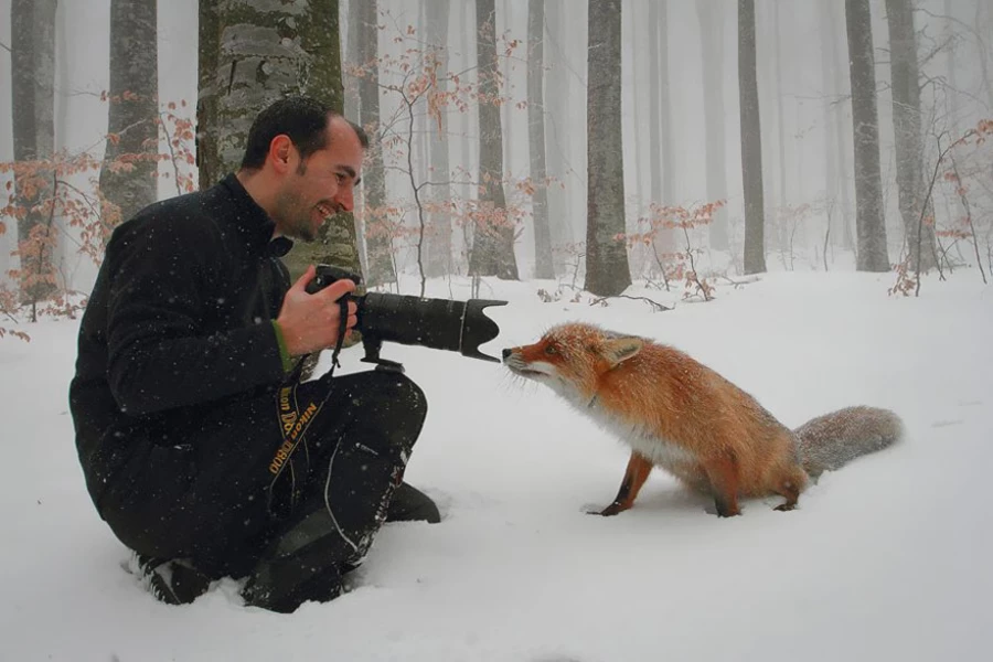
[[[791,427],[867,404],[900,414],[907,438],[825,473],[790,513],[749,500],[722,520],[656,470],[632,510],[592,516],[620,483],[621,444],[502,365],[387,344],[429,398],[407,480],[444,520],[386,525],[351,592],[293,615],[244,607],[233,580],[170,607],[122,569],[75,457],[77,322],[22,325],[31,343],[0,341],[0,660],[979,659],[993,627],[993,288],[962,270],[896,298],[891,279],[776,273],[709,303],[629,290],[669,312],[488,280],[483,298],[511,302],[487,309],[491,355],[587,320],[688,352]],[[367,369],[357,349],[341,359]]]

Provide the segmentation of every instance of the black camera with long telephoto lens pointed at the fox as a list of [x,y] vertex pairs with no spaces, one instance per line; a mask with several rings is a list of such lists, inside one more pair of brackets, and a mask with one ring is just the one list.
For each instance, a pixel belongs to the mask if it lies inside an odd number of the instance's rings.
[[[317,265],[317,276],[307,285],[307,291],[318,292],[335,280],[349,279],[355,285],[362,277],[330,265]],[[366,292],[348,295],[355,302],[357,323],[362,334],[366,363],[401,367],[398,363],[380,359],[383,342],[420,345],[434,350],[459,352],[463,356],[493,361],[479,351],[479,345],[496,338],[500,328],[483,314],[489,306],[505,306],[506,301],[491,299],[428,299],[407,295]]]

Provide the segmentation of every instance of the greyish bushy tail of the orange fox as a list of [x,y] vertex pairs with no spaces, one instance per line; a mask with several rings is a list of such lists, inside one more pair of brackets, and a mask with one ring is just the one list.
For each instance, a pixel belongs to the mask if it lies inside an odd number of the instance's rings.
[[803,469],[815,479],[857,457],[893,446],[904,423],[888,409],[846,407],[818,416],[793,430]]

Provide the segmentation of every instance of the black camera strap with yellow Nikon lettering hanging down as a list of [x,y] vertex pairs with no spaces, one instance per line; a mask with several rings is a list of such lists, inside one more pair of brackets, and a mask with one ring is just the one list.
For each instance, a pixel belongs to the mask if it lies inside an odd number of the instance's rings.
[[[273,456],[273,460],[269,462],[269,473],[273,476],[273,481],[269,483],[268,489],[270,511],[273,510],[273,488],[275,487],[276,481],[279,480],[279,477],[282,476],[287,467],[289,467],[290,471],[289,504],[290,508],[296,504],[297,478],[291,459],[293,452],[297,450],[297,447],[306,438],[307,430],[310,429],[310,426],[313,423],[314,418],[317,418],[317,415],[320,414],[320,410],[321,408],[323,408],[324,403],[328,402],[328,398],[331,397],[331,377],[334,374],[334,369],[341,366],[341,363],[338,360],[338,355],[341,353],[345,335],[348,334],[348,295],[339,299],[339,306],[341,307],[341,322],[338,329],[338,341],[334,343],[334,350],[331,353],[331,369],[328,371],[328,374],[324,377],[328,380],[328,388],[324,393],[324,396],[316,401],[303,402],[302,405],[297,397],[297,388],[300,386],[300,377],[303,372],[303,363],[307,361],[309,354],[302,356],[297,362],[297,365],[293,366],[292,372],[290,372],[289,376],[287,376],[282,385],[279,387],[279,392],[276,398],[276,417],[279,421],[279,429],[282,433],[282,444],[276,450],[276,455]],[[305,398],[305,401],[308,398]],[[307,446],[305,445],[303,448],[306,450]]]

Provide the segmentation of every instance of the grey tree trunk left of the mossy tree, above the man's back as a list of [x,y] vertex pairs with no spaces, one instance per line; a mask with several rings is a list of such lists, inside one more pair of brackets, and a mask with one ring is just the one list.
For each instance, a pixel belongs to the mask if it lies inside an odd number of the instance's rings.
[[[157,0],[111,0],[107,149],[100,193],[125,221],[158,197]],[[127,154],[127,160],[121,159]]]

